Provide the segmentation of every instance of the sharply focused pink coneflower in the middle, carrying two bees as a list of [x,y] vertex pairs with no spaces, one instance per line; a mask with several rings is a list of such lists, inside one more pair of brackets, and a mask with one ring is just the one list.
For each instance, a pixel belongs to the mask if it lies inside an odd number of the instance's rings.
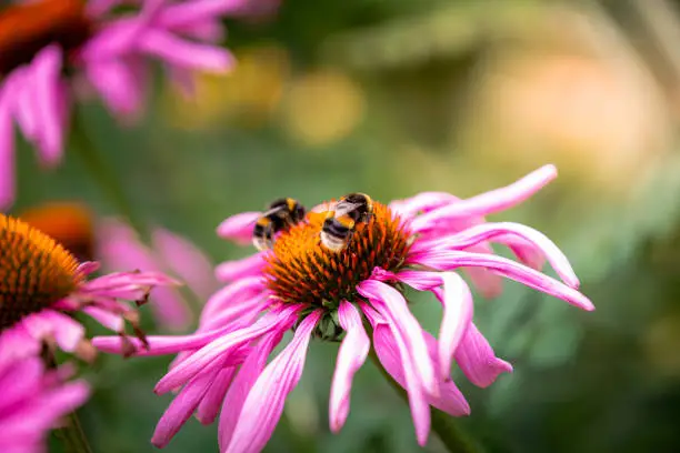
[[[529,226],[483,223],[481,217],[526,200],[557,175],[543,167],[522,180],[467,200],[424,193],[390,205],[373,202],[349,245],[327,250],[320,231],[332,203],[312,210],[282,231],[273,248],[219,269],[229,285],[206,304],[198,331],[183,336],[151,336],[138,355],[178,353],[158,382],[159,394],[179,393],[157,425],[152,443],[166,445],[193,412],[202,423],[219,422],[220,452],[258,452],[271,436],[287,395],[298,384],[312,336],[341,341],[329,419],[337,432],[349,413],[354,372],[369,349],[407,391],[420,445],[430,431],[430,406],[453,416],[470,407],[451,380],[456,362],[473,384],[487,386],[511,366],[497,358],[472,322],[472,295],[457,269],[482,269],[593,310],[561,251]],[[219,228],[244,240],[256,213],[239,214]],[[560,280],[520,262],[471,248],[488,241],[509,243],[538,265],[543,255]],[[439,338],[423,331],[402,289],[434,294],[443,306]],[[364,325],[371,325],[369,332]],[[269,364],[267,358],[289,329],[290,343]],[[370,336],[372,335],[372,342]],[[141,345],[137,342],[137,345]],[[121,352],[116,338],[96,338],[107,352]],[[181,390],[180,390],[181,389]]]

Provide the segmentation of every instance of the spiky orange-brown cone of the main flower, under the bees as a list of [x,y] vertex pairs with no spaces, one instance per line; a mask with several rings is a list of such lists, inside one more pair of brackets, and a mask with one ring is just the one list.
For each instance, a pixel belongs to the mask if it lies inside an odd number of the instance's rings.
[[368,223],[357,226],[349,245],[332,252],[321,244],[326,212],[310,212],[303,222],[281,233],[267,255],[268,288],[286,302],[337,306],[353,300],[356,286],[374,268],[397,271],[403,263],[410,233],[384,204],[373,203]]

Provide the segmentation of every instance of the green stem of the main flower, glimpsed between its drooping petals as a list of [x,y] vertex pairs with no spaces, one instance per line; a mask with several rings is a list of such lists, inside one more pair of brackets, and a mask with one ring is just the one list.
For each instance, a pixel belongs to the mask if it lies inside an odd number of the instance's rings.
[[[390,383],[390,385],[399,393],[399,395],[406,401],[409,401],[409,396],[407,392],[403,390],[401,385],[397,383],[392,379],[392,376],[382,368],[378,355],[376,354],[376,350],[371,346],[371,351],[369,353],[371,360],[380,370],[380,373],[384,376],[384,379]],[[447,447],[447,451],[451,453],[479,453],[482,450],[473,442],[466,433],[463,433],[457,423],[453,421],[453,417],[441,412],[438,409],[431,407],[430,411],[431,420],[432,420],[432,431],[437,433],[443,445]]]

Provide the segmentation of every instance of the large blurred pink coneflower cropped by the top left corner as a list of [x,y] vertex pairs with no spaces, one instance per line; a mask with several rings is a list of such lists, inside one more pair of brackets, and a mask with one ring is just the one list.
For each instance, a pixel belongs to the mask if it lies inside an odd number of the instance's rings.
[[123,120],[139,114],[148,61],[189,88],[192,71],[224,71],[220,17],[241,0],[17,1],[0,10],[0,208],[14,199],[13,123],[44,167],[61,160],[78,80],[87,80]]

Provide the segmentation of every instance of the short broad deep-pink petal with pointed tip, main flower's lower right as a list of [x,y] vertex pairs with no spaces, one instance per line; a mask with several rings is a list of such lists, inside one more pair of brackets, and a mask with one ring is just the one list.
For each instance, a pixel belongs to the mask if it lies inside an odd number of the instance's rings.
[[500,373],[512,372],[512,365],[496,356],[474,323],[470,323],[456,350],[456,363],[468,380],[480,387],[491,385]]

